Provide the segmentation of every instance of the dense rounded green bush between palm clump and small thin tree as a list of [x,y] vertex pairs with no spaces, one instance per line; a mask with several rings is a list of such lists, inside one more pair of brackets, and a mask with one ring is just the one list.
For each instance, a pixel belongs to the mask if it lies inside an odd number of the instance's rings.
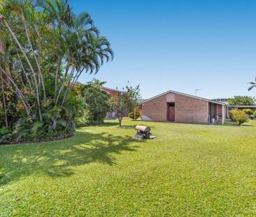
[[106,113],[109,111],[109,96],[102,89],[102,85],[105,83],[94,80],[84,85],[81,84],[81,96],[85,101],[85,108],[83,117],[76,119],[78,126],[104,123]]

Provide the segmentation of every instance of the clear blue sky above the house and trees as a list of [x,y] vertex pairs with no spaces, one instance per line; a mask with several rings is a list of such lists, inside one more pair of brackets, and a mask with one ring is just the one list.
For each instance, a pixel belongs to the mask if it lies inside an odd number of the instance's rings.
[[167,90],[206,98],[255,96],[256,1],[70,1],[110,40],[112,62],[94,77],[107,87],[141,85],[143,98]]

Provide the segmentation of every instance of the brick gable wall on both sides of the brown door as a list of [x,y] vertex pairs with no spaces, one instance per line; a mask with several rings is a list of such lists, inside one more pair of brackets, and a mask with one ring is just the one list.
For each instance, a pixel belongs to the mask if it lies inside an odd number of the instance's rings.
[[[166,95],[143,104],[144,120],[167,121]],[[149,119],[145,119],[148,117]],[[208,101],[175,93],[175,122],[190,124],[208,123]]]

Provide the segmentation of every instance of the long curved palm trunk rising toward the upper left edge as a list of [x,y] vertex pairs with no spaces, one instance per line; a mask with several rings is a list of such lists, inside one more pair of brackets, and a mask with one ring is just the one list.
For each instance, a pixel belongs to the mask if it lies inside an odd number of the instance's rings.
[[34,85],[35,85],[35,89],[36,89],[36,103],[38,106],[38,116],[39,116],[39,120],[43,121],[43,117],[42,117],[42,113],[41,113],[41,103],[40,103],[40,96],[39,96],[39,92],[38,92],[38,85],[37,85],[37,81],[36,81],[36,74],[34,73],[34,69],[29,61],[29,58],[27,57],[27,54],[24,52],[22,45],[20,45],[19,40],[17,40],[17,37],[15,36],[15,33],[13,32],[13,30],[10,28],[8,22],[6,22],[6,20],[4,19],[4,17],[0,14],[0,20],[3,21],[3,23],[5,24],[6,28],[8,29],[8,31],[10,32],[11,36],[13,37],[13,39],[15,40],[15,43],[17,44],[17,46],[20,48],[22,54],[24,55],[24,58],[26,59],[29,68],[31,70],[31,73],[33,75],[34,78]]

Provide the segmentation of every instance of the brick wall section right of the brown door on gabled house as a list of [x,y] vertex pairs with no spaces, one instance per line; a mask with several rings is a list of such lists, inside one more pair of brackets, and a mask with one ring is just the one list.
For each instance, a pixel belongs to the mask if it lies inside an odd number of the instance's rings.
[[207,124],[208,102],[206,100],[176,94],[175,122]]

